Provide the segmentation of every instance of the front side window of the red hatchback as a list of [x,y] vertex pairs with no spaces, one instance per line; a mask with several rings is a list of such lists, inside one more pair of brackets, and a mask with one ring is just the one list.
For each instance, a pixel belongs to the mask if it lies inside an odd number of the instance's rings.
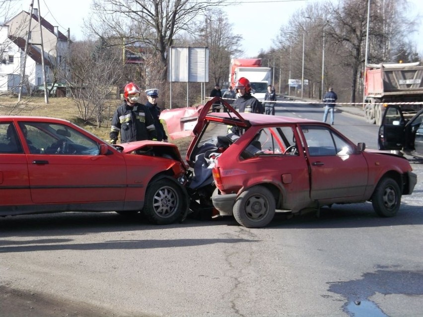
[[340,135],[327,127],[302,126],[310,156],[349,155],[353,148]]

